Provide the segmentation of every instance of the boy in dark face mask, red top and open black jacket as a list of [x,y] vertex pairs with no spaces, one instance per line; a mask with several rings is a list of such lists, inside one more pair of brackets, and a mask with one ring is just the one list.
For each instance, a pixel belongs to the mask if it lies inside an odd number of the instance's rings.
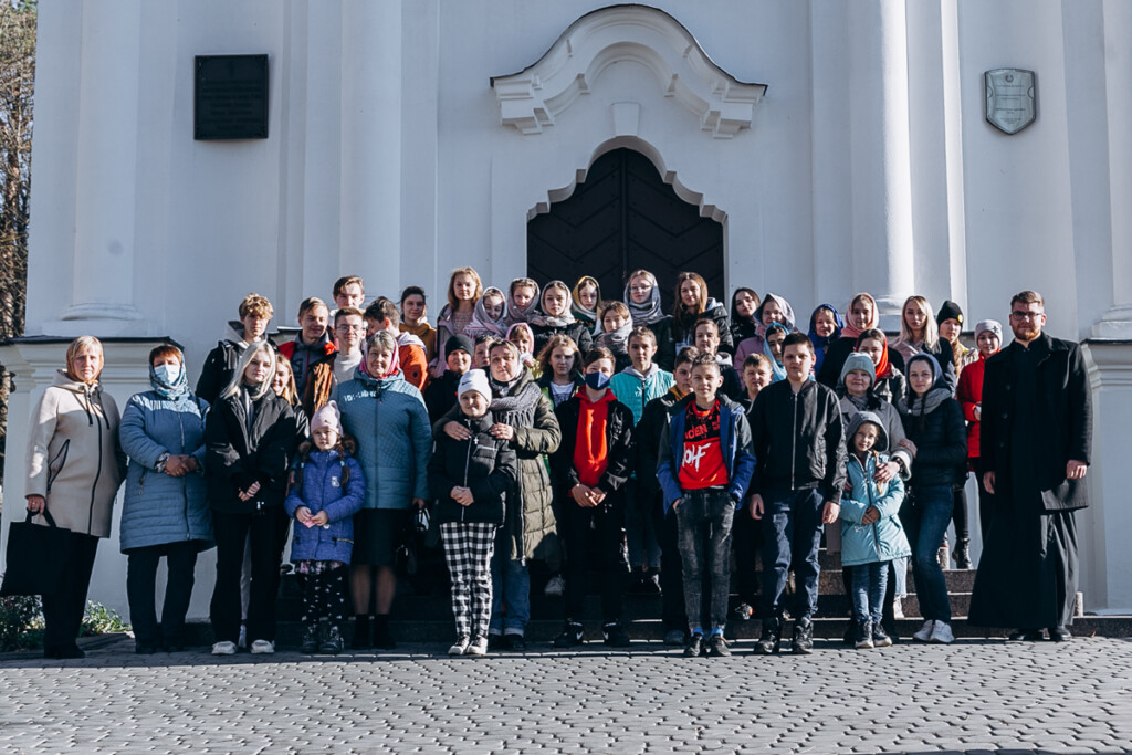
[[629,564],[625,550],[625,482],[633,466],[633,412],[609,389],[616,359],[603,346],[583,360],[585,387],[555,410],[563,439],[550,457],[566,544],[566,628],[558,647],[582,644],[586,551],[597,548],[602,570],[602,636],[626,647],[621,601]]

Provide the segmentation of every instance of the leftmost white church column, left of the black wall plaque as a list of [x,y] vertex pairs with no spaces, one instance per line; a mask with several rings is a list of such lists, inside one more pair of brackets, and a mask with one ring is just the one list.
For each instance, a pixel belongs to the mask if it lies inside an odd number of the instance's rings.
[[70,306],[51,325],[59,335],[144,334],[134,306],[142,0],[83,11],[75,273]]

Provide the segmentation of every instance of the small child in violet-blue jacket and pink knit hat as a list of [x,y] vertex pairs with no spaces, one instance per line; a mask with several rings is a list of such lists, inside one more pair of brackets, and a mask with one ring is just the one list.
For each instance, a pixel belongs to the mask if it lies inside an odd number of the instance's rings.
[[[353,457],[353,438],[342,430],[335,402],[327,402],[310,420],[311,439],[299,446],[299,457],[284,506],[295,521],[291,561],[302,589],[307,625],[302,652],[342,652],[346,620],[353,515],[366,498],[366,478]],[[319,642],[319,624],[329,629]]]

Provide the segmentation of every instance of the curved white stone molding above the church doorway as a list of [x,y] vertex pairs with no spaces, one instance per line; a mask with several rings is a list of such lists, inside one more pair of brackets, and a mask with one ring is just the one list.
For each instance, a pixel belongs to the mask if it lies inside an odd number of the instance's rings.
[[574,101],[589,94],[609,66],[634,61],[648,68],[666,97],[687,108],[700,128],[730,139],[751,128],[765,84],[740,81],[717,66],[694,36],[662,10],[610,6],[582,16],[537,62],[491,86],[500,121],[523,134],[541,134]]

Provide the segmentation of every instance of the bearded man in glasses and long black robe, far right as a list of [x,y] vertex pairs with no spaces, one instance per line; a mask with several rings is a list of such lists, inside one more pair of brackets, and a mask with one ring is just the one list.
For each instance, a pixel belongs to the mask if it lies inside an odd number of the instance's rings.
[[1011,300],[1014,342],[986,361],[983,484],[995,495],[969,624],[1020,627],[1012,638],[1070,638],[1077,597],[1077,523],[1089,505],[1091,411],[1081,348],[1041,333],[1045,302]]

